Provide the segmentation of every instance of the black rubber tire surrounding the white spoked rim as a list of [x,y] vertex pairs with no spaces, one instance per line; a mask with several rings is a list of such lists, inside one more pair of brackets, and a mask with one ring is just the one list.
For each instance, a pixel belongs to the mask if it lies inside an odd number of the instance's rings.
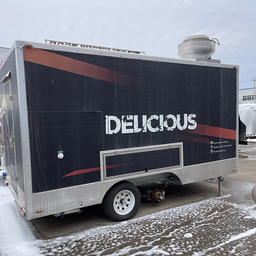
[[[128,190],[128,191],[132,192],[135,200],[134,200],[133,208],[130,208],[132,210],[125,215],[120,215],[116,212],[117,209],[115,210],[114,200],[116,199],[116,196],[121,191],[124,191],[124,190]],[[131,197],[131,194],[129,194],[129,196]],[[129,200],[129,198],[128,198],[128,200]],[[120,205],[120,207],[122,207],[122,206]],[[132,206],[130,206],[130,207],[132,207]],[[106,195],[104,196],[104,199],[102,201],[102,208],[103,208],[103,212],[110,220],[122,221],[122,220],[131,219],[138,212],[138,210],[140,208],[140,191],[135,185],[133,185],[130,182],[124,181],[122,183],[117,183],[112,188],[110,188],[108,190],[108,192],[106,193]]]

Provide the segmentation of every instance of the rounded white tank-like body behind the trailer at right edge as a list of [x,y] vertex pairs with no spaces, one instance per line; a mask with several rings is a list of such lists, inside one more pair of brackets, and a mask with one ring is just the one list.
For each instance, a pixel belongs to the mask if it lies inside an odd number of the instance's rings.
[[239,104],[239,116],[246,125],[246,134],[256,134],[256,103]]

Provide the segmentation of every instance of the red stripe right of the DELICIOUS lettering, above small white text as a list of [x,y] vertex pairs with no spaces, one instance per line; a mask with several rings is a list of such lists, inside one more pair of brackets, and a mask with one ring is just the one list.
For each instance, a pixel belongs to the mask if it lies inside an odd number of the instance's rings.
[[204,124],[197,124],[195,130],[186,129],[185,132],[196,133],[200,135],[206,135],[211,137],[218,137],[230,140],[236,140],[236,130],[230,130],[226,128],[220,128],[215,126],[209,126]]

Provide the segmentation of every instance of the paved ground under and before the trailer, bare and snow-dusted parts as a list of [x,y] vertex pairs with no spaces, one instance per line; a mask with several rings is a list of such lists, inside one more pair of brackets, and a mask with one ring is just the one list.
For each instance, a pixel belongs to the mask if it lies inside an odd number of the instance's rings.
[[255,167],[256,144],[249,143],[239,147],[239,173],[225,177],[222,196],[213,179],[169,188],[162,206],[144,202],[136,218],[120,223],[107,220],[96,205],[81,217],[45,217],[28,225],[47,256],[254,256],[256,219],[249,212],[256,206]]

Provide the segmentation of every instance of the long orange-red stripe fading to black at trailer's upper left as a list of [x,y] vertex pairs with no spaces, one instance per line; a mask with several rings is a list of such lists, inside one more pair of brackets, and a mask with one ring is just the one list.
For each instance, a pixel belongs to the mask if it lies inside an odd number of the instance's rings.
[[132,76],[36,48],[23,48],[24,60],[120,85],[131,85]]

